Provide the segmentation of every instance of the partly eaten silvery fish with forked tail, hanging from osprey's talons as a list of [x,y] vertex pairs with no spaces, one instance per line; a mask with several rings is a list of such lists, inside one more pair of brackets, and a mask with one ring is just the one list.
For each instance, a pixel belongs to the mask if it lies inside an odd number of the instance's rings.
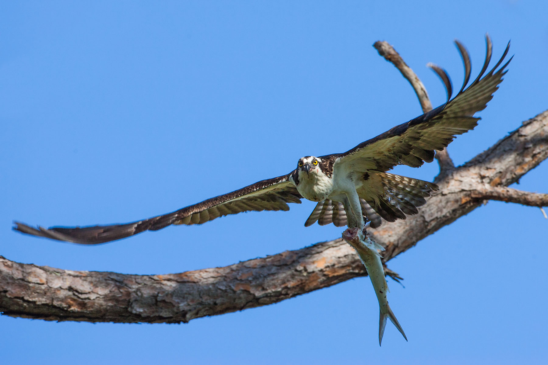
[[379,346],[383,341],[384,329],[386,327],[386,320],[390,321],[396,326],[398,331],[403,335],[403,338],[407,341],[407,336],[403,332],[403,328],[399,325],[396,316],[388,305],[387,292],[389,292],[388,284],[384,276],[383,263],[380,260],[380,254],[377,250],[384,251],[384,247],[377,244],[374,240],[366,234],[364,235],[358,228],[349,228],[343,232],[343,239],[358,253],[359,258],[362,260],[364,266],[366,266],[367,274],[375,295],[379,301]]

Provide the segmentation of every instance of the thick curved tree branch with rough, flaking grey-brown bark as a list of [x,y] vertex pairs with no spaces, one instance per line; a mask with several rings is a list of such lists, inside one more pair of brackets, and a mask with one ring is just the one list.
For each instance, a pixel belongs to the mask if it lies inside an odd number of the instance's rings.
[[[396,51],[385,42],[374,47],[400,69],[423,110],[429,110],[424,85]],[[419,214],[369,230],[386,248],[384,263],[485,200],[548,206],[548,194],[507,188],[548,158],[548,111],[462,166],[454,167],[447,153],[440,155],[440,190]],[[399,277],[389,269],[386,274]],[[178,323],[276,303],[364,275],[356,252],[342,239],[223,268],[165,275],[70,271],[0,256],[0,311],[52,321]]]

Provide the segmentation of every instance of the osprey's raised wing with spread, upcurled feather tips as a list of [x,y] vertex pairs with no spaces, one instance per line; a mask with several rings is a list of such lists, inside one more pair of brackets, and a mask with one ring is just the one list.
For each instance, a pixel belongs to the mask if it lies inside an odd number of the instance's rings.
[[506,66],[512,60],[510,58],[504,66],[496,70],[508,53],[510,48],[508,43],[495,67],[483,76],[492,53],[489,36],[486,36],[486,42],[487,55],[483,68],[470,86],[466,88],[471,73],[470,56],[464,46],[455,40],[465,68],[464,83],[456,96],[451,99],[453,88],[447,73],[435,65],[429,65],[442,79],[447,89],[447,102],[420,117],[362,142],[345,153],[336,155],[334,164],[349,163],[358,169],[387,171],[399,164],[419,167],[424,161],[432,162],[434,150],[442,150],[453,141],[456,135],[463,134],[477,125],[480,118],[474,117],[474,114],[483,110],[487,102],[492,99],[493,93],[498,89],[506,73]]

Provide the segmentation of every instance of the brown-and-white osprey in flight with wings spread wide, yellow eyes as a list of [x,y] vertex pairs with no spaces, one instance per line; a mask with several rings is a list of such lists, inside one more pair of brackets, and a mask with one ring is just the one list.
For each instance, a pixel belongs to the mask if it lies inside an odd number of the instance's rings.
[[[89,227],[31,227],[14,222],[14,230],[49,239],[77,244],[102,244],[119,240],[146,230],[158,230],[171,224],[202,224],[215,218],[246,211],[289,210],[288,203],[300,203],[302,198],[318,204],[306,219],[308,227],[333,223],[337,227],[363,229],[369,222],[376,228],[384,221],[394,222],[418,213],[428,196],[438,190],[436,184],[387,171],[396,165],[419,167],[432,162],[435,150],[442,150],[456,135],[472,130],[483,110],[503,80],[510,43],[496,65],[486,73],[492,55],[488,36],[487,55],[481,72],[469,85],[471,63],[464,46],[455,40],[464,62],[463,86],[452,96],[452,84],[446,71],[430,67],[444,83],[447,101],[441,106],[406,123],[358,144],[343,153],[305,156],[286,175],[269,178],[215,196],[172,213],[142,219],[132,223],[95,225]],[[498,69],[497,69],[498,68]]]

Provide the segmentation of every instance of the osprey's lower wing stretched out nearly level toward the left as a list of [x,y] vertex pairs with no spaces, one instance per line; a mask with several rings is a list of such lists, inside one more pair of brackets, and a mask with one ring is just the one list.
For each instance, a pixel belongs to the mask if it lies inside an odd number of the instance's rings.
[[289,175],[262,180],[235,192],[215,196],[195,205],[138,222],[93,227],[33,228],[14,222],[14,230],[35,236],[77,244],[102,244],[170,224],[202,224],[215,218],[246,211],[289,210],[287,203],[300,203],[302,196]]

